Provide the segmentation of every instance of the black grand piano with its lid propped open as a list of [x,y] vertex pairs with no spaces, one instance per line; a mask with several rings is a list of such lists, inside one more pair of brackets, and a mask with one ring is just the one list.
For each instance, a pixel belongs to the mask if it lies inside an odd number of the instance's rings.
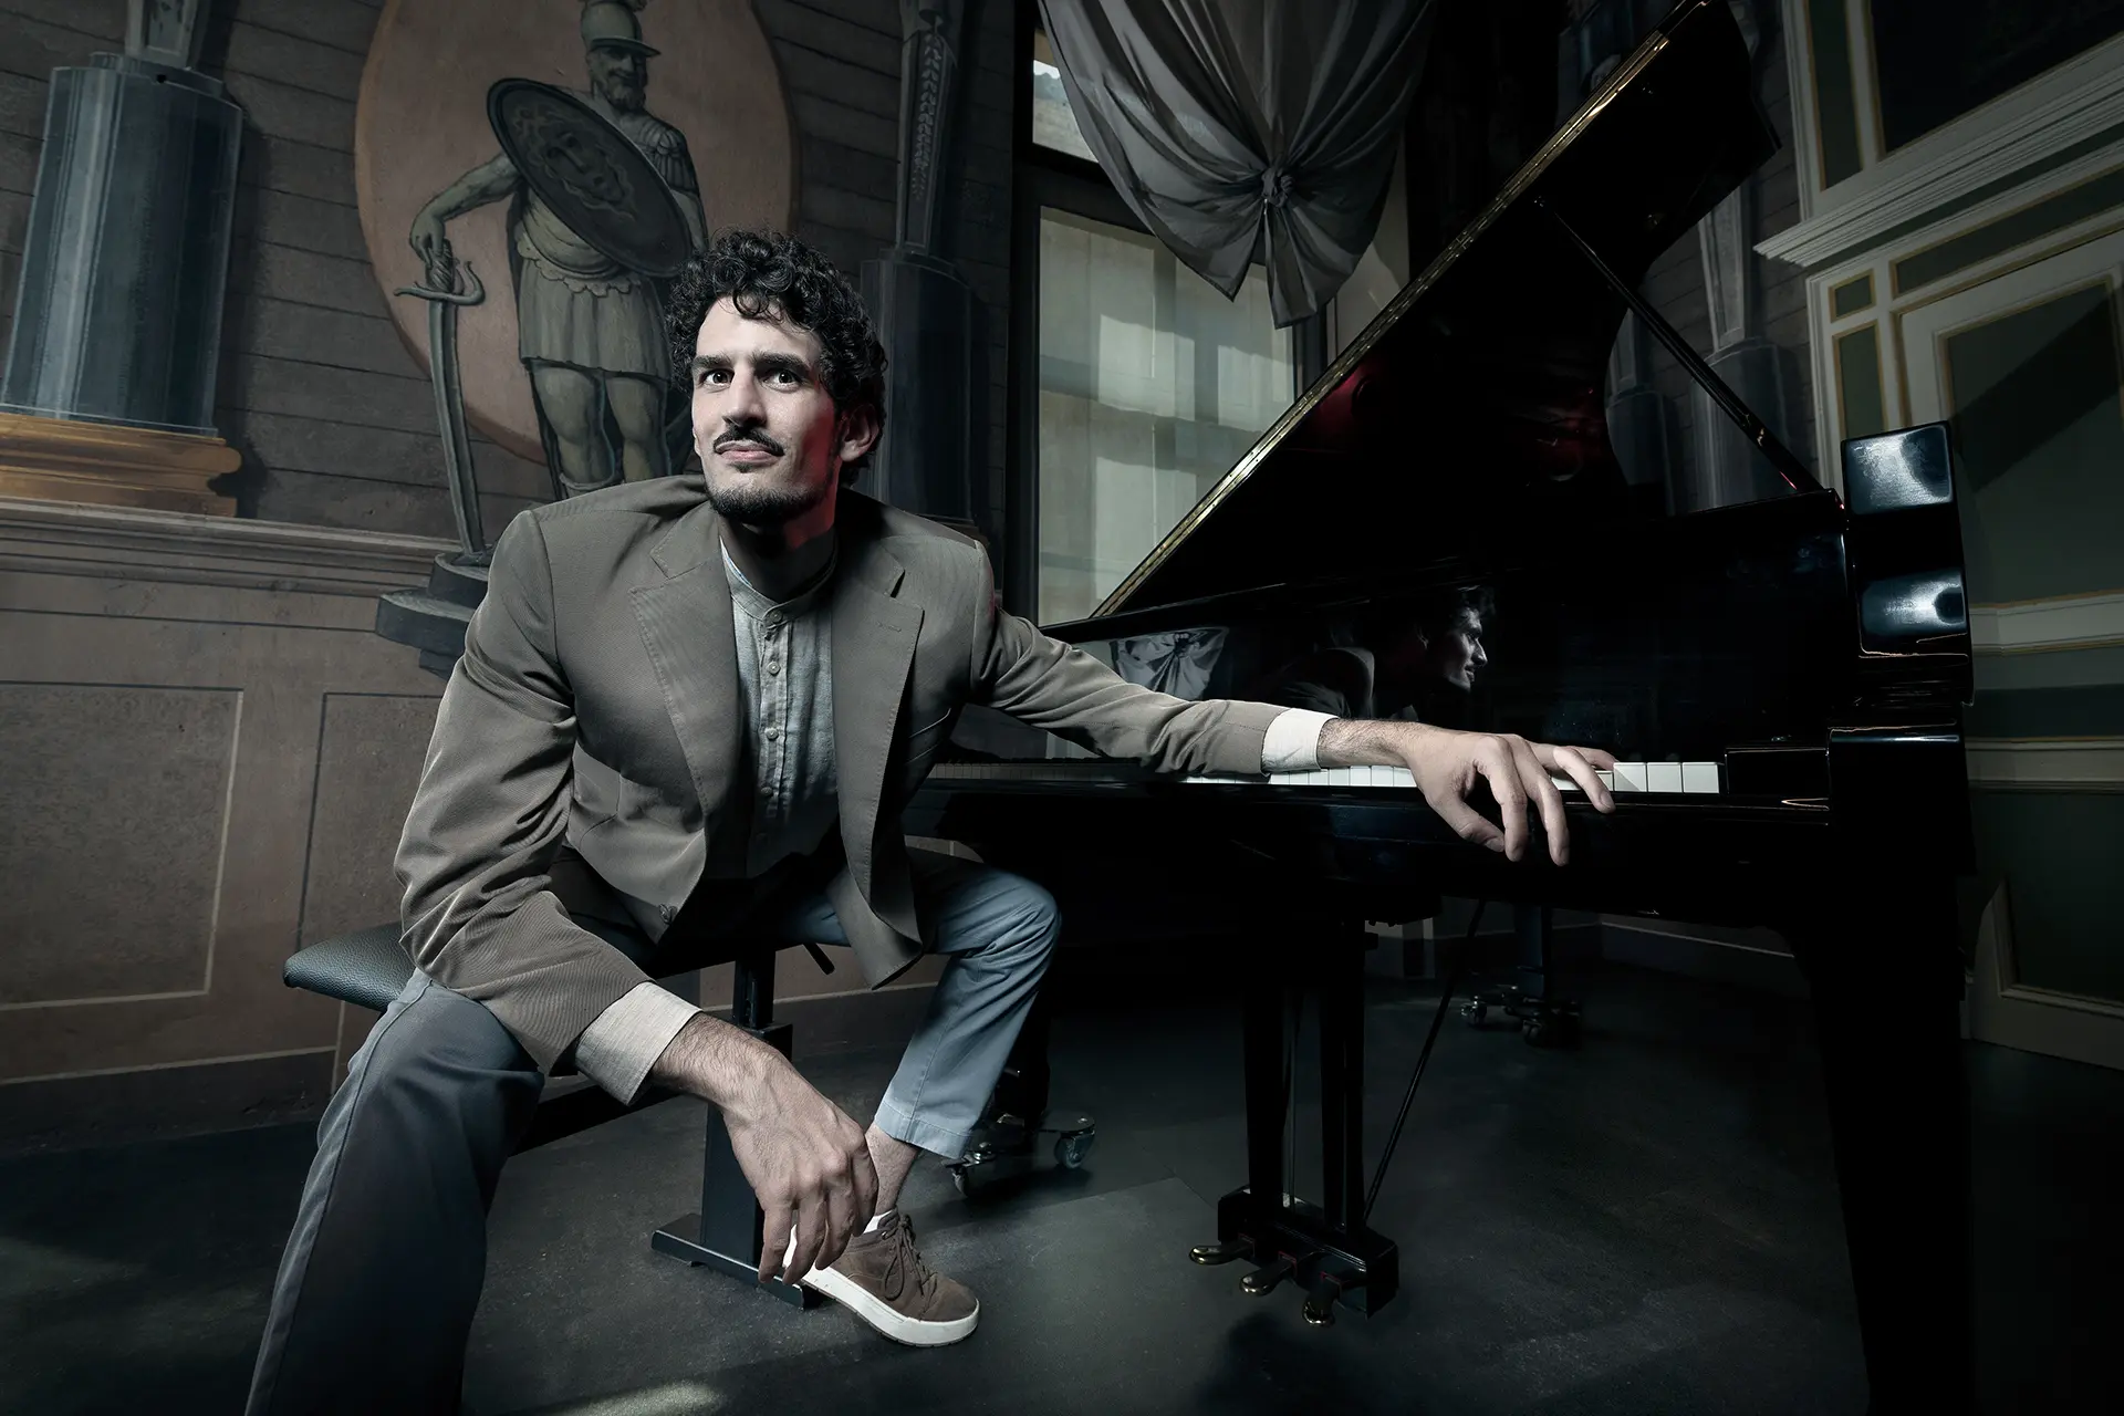
[[[1238,964],[1247,1182],[1194,1257],[1251,1261],[1253,1291],[1296,1280],[1313,1320],[1374,1312],[1415,1270],[1366,1223],[1364,919],[1446,894],[1782,932],[1814,998],[1873,1410],[1967,1410],[1971,658],[1948,429],[1846,444],[1839,495],[1635,295],[1774,146],[1725,0],[1684,0],[1092,618],[1047,626],[1109,662],[1213,643],[1211,688],[1260,696],[1285,658],[1478,586],[1468,726],[1621,760],[1612,813],[1565,794],[1565,866],[1538,824],[1521,862],[1457,839],[1387,769],[990,756],[939,764],[907,824],[1034,877],[1198,881],[1268,921]],[[1761,499],[1674,516],[1616,456],[1601,384],[1625,310],[1742,429]],[[1319,1197],[1287,1193],[1283,1157],[1296,987],[1319,989]]]

